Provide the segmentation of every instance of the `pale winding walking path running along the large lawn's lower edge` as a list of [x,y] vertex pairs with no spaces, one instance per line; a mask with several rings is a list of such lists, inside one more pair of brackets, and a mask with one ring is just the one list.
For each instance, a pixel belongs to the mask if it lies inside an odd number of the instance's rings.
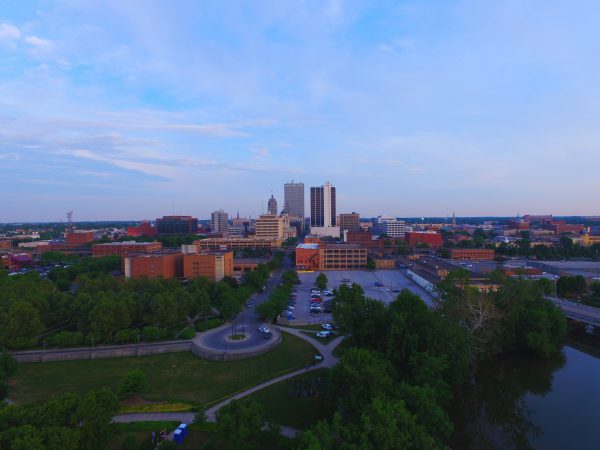
[[[327,344],[323,344],[323,343],[320,343],[320,342],[316,341],[315,339],[307,336],[306,334],[302,333],[302,330],[298,330],[295,328],[289,328],[289,327],[282,327],[282,326],[277,326],[277,325],[274,328],[277,328],[280,331],[285,331],[286,333],[293,334],[294,336],[297,336],[300,339],[304,339],[305,341],[309,342],[311,345],[313,345],[319,351],[319,353],[323,357],[323,360],[319,364],[307,366],[305,369],[295,370],[294,372],[290,372],[285,375],[281,375],[279,377],[272,378],[268,381],[265,381],[264,383],[258,384],[249,389],[246,389],[245,391],[239,392],[239,393],[227,398],[226,400],[223,400],[222,402],[217,403],[214,406],[211,406],[210,408],[208,408],[206,410],[206,417],[209,422],[216,422],[217,412],[224,406],[231,403],[233,400],[238,400],[238,399],[247,397],[248,395],[251,395],[257,391],[260,391],[261,389],[272,386],[276,383],[279,383],[280,381],[288,380],[290,378],[293,378],[297,375],[301,375],[306,372],[310,372],[310,371],[317,370],[317,369],[323,369],[323,368],[332,368],[333,366],[335,366],[338,363],[339,358],[337,358],[336,356],[333,355],[333,351],[344,340],[344,336],[338,336],[337,338],[328,342]],[[313,330],[311,330],[311,331],[313,331]],[[154,421],[164,421],[164,420],[173,420],[173,421],[180,421],[183,423],[192,423],[194,420],[194,416],[195,416],[195,413],[134,413],[134,414],[120,414],[120,415],[116,416],[113,420],[115,422],[122,422],[122,423],[154,422]],[[290,437],[290,438],[296,437],[298,435],[298,433],[300,433],[299,430],[296,430],[291,427],[281,426],[280,428],[281,428],[281,434],[286,437]],[[169,435],[169,438],[172,439],[171,434]]]

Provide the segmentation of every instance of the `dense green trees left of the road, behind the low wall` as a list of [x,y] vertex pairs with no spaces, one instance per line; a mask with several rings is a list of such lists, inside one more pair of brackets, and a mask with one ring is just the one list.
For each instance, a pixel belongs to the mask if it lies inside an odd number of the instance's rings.
[[[189,338],[202,316],[234,318],[253,292],[260,290],[283,254],[276,255],[241,283],[226,277],[184,283],[173,279],[122,279],[109,275],[114,257],[82,258],[71,267],[9,277],[0,271],[0,347],[126,343]],[[119,262],[120,264],[120,262]]]

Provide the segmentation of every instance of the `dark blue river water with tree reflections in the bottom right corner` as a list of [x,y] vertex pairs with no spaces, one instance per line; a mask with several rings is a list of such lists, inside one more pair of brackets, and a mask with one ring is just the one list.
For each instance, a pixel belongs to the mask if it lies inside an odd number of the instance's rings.
[[572,346],[496,357],[456,398],[453,448],[600,449],[600,359]]

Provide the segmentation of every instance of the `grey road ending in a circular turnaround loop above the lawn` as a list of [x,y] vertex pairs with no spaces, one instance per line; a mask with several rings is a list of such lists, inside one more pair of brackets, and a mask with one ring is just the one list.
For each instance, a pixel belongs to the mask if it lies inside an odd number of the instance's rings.
[[260,316],[254,311],[254,308],[269,298],[273,290],[281,284],[281,275],[284,271],[292,268],[289,257],[283,260],[282,266],[276,269],[267,285],[265,292],[255,294],[252,298],[256,302],[250,308],[244,310],[235,320],[235,332],[247,336],[243,341],[230,341],[227,338],[232,334],[231,324],[217,328],[201,335],[201,345],[215,352],[227,352],[235,350],[247,350],[260,347],[265,344],[265,339],[258,332],[258,327],[262,324]]

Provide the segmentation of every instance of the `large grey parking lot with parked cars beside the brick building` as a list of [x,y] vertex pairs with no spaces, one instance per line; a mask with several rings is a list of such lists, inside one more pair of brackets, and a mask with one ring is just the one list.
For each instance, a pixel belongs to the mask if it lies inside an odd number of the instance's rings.
[[[319,323],[332,320],[331,313],[311,313],[310,312],[310,290],[316,286],[316,279],[321,272],[299,273],[301,284],[297,286],[298,296],[294,307],[293,317],[297,321]],[[425,303],[431,305],[432,299],[423,289],[417,286],[406,277],[403,270],[351,270],[351,271],[325,271],[327,275],[327,287],[337,289],[342,280],[350,280],[362,286],[367,297],[381,300],[389,303],[396,298],[398,292],[402,289],[408,289],[419,295]],[[376,284],[377,283],[377,284]],[[333,297],[324,297],[324,300],[333,299]]]

